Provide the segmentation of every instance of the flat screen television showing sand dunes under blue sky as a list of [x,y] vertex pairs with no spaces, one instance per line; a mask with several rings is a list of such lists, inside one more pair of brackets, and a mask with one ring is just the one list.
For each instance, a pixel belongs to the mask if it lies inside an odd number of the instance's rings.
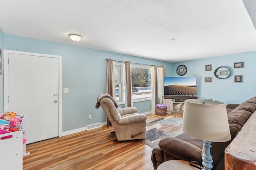
[[196,77],[164,77],[164,96],[196,95]]

